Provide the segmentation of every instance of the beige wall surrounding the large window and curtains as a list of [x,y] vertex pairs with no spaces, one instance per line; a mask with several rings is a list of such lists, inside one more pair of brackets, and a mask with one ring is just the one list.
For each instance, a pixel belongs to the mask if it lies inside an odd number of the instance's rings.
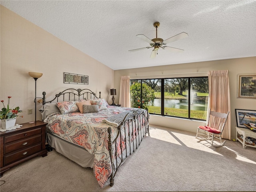
[[[116,96],[115,102],[119,102],[121,76],[129,75],[130,79],[207,76],[207,72],[210,70],[228,70],[231,100],[231,137],[235,138],[235,109],[256,110],[256,99],[237,98],[237,75],[256,74],[256,57],[115,70],[114,87],[117,89],[118,94]],[[185,130],[189,132],[196,132],[197,126],[202,125],[202,122],[151,115],[150,124]]]

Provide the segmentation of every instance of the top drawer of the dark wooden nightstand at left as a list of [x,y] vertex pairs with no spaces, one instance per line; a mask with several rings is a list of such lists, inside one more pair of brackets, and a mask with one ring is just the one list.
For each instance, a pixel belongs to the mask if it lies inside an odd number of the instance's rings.
[[4,137],[4,144],[7,144],[7,143],[10,143],[10,142],[13,142],[13,141],[17,141],[17,140],[20,140],[20,139],[25,139],[25,138],[28,138],[28,137],[31,137],[31,136],[34,136],[34,135],[38,135],[40,133],[42,133],[42,128],[41,127],[30,130],[30,131],[25,131],[25,132],[22,132],[22,133],[17,133],[17,134],[13,134],[13,135],[10,135],[10,136],[6,136],[6,137]]

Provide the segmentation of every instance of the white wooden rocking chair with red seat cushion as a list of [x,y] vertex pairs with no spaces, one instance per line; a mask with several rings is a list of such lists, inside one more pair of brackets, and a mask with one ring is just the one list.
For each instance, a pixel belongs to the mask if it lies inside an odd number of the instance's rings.
[[[208,124],[206,126],[198,126],[196,138],[199,140],[211,140],[214,147],[224,146],[226,141],[222,142],[221,136],[228,119],[228,114],[229,111],[228,113],[220,113],[210,110]],[[220,145],[213,145],[214,140],[220,140]]]

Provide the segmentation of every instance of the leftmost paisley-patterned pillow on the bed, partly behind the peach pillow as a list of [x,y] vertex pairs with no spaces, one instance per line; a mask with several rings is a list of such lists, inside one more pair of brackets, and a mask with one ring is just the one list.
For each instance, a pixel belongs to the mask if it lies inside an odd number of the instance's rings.
[[61,114],[78,112],[77,102],[85,102],[85,99],[80,99],[76,101],[63,101],[56,103],[56,106],[59,108]]

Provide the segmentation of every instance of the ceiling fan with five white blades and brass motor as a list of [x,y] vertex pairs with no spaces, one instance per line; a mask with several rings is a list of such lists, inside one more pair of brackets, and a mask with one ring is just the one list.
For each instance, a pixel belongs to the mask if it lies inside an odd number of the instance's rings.
[[172,36],[172,37],[170,37],[166,40],[163,40],[161,38],[157,38],[157,28],[159,26],[160,26],[159,22],[154,23],[154,27],[156,28],[156,38],[154,38],[154,39],[150,40],[150,38],[146,37],[143,34],[136,35],[136,37],[148,42],[150,44],[150,47],[143,47],[143,48],[133,49],[133,50],[129,50],[129,51],[132,52],[132,51],[138,51],[138,50],[149,49],[149,48],[154,47],[154,49],[151,52],[150,58],[155,58],[156,57],[156,54],[158,53],[159,48],[167,49],[167,50],[170,50],[170,51],[178,51],[178,52],[184,51],[183,49],[178,49],[178,48],[163,46],[163,45],[166,45],[170,42],[174,42],[174,41],[177,41],[177,40],[180,40],[180,39],[183,39],[183,38],[186,38],[186,37],[188,37],[188,34],[185,33],[185,32],[182,32],[182,33],[177,34],[175,36]]

